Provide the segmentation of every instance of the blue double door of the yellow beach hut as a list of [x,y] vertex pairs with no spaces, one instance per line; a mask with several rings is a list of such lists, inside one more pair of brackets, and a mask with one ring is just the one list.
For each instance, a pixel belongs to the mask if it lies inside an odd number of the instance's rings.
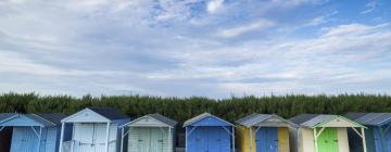
[[278,128],[261,127],[255,135],[256,152],[278,152]]

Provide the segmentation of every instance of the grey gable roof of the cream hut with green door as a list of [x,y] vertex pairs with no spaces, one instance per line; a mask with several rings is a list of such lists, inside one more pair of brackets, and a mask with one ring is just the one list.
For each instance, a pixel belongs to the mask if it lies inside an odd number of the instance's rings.
[[[360,126],[360,127],[364,127],[363,125],[354,122],[354,121],[351,121],[349,118],[345,118],[343,116],[340,116],[340,115],[329,115],[329,114],[300,114],[298,116],[294,116],[292,118],[290,118],[289,121],[302,126],[302,127],[308,127],[308,128],[314,128],[314,127],[318,127],[318,126],[321,126],[321,125],[325,125],[329,122],[332,122],[332,121],[339,121],[339,119],[343,119],[344,122],[348,122],[349,126],[346,127],[350,127],[350,126]],[[340,124],[338,122],[338,124]]]

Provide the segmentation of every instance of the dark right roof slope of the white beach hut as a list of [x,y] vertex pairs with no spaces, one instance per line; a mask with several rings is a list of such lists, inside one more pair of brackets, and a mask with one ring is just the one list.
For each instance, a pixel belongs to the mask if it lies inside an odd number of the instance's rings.
[[129,118],[127,115],[123,114],[119,110],[114,107],[87,107],[102,116],[104,116],[108,119],[126,119]]

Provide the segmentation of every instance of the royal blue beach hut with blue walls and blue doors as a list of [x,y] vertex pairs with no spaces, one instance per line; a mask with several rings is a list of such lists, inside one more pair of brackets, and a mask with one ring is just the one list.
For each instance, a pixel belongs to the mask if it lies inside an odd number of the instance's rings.
[[230,152],[235,148],[235,126],[210,113],[185,122],[186,152]]

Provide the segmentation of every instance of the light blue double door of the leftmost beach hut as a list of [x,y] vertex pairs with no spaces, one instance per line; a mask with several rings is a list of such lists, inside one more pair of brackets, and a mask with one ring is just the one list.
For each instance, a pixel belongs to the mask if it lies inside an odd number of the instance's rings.
[[11,152],[35,152],[38,137],[30,127],[14,127]]

